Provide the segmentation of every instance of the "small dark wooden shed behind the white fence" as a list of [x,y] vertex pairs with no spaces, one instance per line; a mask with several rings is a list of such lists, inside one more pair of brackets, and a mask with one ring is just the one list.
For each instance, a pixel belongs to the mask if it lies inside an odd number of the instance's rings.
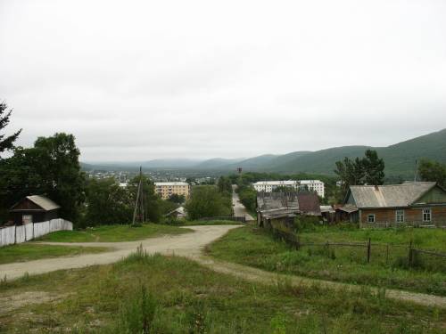
[[61,208],[53,200],[41,195],[27,196],[14,204],[9,212],[15,225],[46,222],[59,218]]

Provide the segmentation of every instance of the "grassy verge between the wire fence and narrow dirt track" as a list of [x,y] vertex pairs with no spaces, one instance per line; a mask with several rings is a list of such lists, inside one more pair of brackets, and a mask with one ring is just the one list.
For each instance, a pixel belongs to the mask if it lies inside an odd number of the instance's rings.
[[[213,257],[271,272],[446,296],[446,273],[409,270],[398,260],[388,265],[378,260],[368,264],[365,250],[358,253],[357,248],[301,248],[296,251],[252,226],[229,231],[208,246],[207,251]],[[372,257],[375,257],[373,254],[377,250],[373,252]]]

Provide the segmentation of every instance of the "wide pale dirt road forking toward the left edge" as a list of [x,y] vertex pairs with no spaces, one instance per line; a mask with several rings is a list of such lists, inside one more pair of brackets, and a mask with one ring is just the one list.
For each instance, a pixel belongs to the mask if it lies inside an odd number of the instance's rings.
[[110,252],[98,254],[85,254],[77,257],[46,258],[29,262],[0,265],[0,278],[12,280],[23,276],[25,273],[49,273],[55,270],[81,268],[87,265],[107,265],[127,257],[142,244],[150,254],[161,253],[164,255],[176,254],[184,257],[199,257],[202,248],[213,240],[217,240],[230,229],[237,225],[218,226],[187,226],[194,233],[180,235],[165,235],[159,238],[128,242],[42,242],[54,245],[110,247]]

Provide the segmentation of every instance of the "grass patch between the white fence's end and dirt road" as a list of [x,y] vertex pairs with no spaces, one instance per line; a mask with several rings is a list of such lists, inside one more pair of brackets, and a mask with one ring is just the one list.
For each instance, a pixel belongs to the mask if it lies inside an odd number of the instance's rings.
[[102,225],[89,227],[82,231],[58,231],[38,238],[38,241],[53,242],[118,242],[143,240],[165,234],[182,234],[192,230],[165,224],[143,224],[139,227],[131,225]]

